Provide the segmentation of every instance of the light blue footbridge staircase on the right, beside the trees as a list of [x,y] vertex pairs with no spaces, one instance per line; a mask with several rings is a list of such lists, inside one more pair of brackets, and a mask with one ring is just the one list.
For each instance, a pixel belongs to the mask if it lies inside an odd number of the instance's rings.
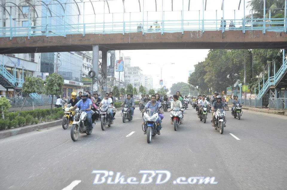
[[287,59],[283,61],[283,64],[281,65],[280,69],[277,72],[275,72],[275,75],[269,76],[267,81],[263,83],[263,87],[262,89],[259,90],[259,94],[256,99],[262,99],[262,107],[267,107],[269,104],[269,98],[277,98],[276,96],[277,89],[286,87],[287,87]]

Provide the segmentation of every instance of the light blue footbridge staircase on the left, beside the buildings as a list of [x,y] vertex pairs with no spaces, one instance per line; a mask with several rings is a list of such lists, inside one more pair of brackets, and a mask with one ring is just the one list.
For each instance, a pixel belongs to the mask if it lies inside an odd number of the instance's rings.
[[[24,80],[17,79],[16,73],[12,75],[3,66],[0,66],[0,85],[6,89],[15,89],[16,94],[21,94]],[[26,97],[28,94],[22,93],[22,97]],[[32,98],[41,98],[42,96],[36,93],[29,94]]]

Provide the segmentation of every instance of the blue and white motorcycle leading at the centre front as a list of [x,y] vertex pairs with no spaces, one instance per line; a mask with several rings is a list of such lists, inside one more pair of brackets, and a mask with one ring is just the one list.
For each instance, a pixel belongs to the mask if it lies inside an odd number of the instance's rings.
[[[159,109],[161,107],[162,105],[159,107]],[[150,143],[152,137],[157,134],[156,128],[159,125],[159,123],[156,122],[159,117],[157,111],[153,112],[151,109],[146,109],[146,111],[144,112],[144,122],[141,127],[143,131],[146,130],[147,143]]]

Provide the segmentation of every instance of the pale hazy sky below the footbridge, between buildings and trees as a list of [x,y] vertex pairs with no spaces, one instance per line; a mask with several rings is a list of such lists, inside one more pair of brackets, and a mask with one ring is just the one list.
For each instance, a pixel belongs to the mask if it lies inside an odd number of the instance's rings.
[[160,87],[160,65],[165,64],[162,79],[170,88],[173,83],[187,82],[188,71],[194,70],[193,65],[205,59],[208,50],[121,50],[122,53],[131,57],[131,66],[139,66],[143,74],[153,76],[154,87]]

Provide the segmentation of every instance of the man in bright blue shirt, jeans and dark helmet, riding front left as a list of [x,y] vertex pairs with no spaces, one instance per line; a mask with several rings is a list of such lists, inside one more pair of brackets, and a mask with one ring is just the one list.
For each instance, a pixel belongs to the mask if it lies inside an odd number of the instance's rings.
[[81,110],[83,110],[87,113],[88,128],[89,128],[89,130],[91,130],[93,128],[93,126],[92,126],[92,112],[91,112],[92,101],[91,101],[91,99],[88,98],[88,94],[86,92],[84,92],[82,94],[82,99],[80,99],[80,101],[77,102],[77,104],[71,109],[75,109],[77,107],[81,107]]

